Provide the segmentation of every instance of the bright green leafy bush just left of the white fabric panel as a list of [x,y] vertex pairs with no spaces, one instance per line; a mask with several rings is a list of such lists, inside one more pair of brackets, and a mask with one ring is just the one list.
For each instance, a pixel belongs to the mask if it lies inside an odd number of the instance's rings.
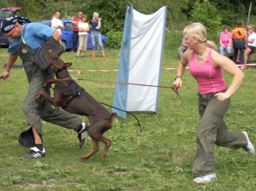
[[112,30],[106,34],[106,37],[108,48],[119,49],[121,47],[123,32]]

